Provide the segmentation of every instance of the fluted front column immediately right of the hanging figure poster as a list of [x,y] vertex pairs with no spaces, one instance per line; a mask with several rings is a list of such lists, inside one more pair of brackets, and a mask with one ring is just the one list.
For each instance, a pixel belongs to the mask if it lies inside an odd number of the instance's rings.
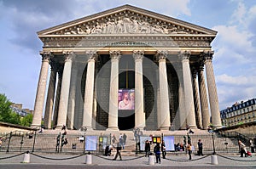
[[133,51],[135,60],[135,127],[145,127],[143,96],[143,51]]

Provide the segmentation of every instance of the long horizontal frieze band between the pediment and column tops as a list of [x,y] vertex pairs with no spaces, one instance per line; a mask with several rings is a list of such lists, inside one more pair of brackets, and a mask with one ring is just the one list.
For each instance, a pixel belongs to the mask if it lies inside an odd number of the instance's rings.
[[97,37],[81,39],[48,39],[44,41],[44,48],[104,48],[104,47],[196,47],[210,48],[208,40],[170,38],[170,37]]

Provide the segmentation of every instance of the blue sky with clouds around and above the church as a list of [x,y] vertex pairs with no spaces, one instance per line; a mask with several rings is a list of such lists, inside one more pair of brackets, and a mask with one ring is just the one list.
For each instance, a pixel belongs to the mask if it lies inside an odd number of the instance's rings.
[[255,98],[254,0],[0,0],[0,93],[33,110],[43,46],[37,31],[124,4],[218,31],[212,49],[220,110]]

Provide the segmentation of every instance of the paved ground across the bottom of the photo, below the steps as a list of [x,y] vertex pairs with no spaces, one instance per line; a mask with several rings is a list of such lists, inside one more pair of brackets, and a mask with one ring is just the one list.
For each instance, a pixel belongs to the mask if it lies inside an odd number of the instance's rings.
[[[16,156],[15,156],[16,155]],[[30,154],[29,163],[25,164],[25,154],[21,153],[1,153],[0,168],[22,168],[26,167],[48,167],[51,166],[65,168],[67,166],[75,166],[74,168],[148,168],[158,167],[166,168],[167,166],[175,166],[175,168],[254,168],[256,167],[256,155],[252,157],[240,157],[238,154],[217,155],[218,165],[212,164],[212,155],[192,156],[192,161],[188,161],[187,155],[167,155],[166,159],[161,159],[161,163],[149,165],[148,157],[143,155],[122,156],[122,161],[113,161],[113,156],[92,155],[92,164],[86,164],[86,155],[64,155],[64,154]],[[9,166],[9,167],[8,167]],[[39,168],[40,168],[39,167]],[[69,167],[70,168],[70,167]]]

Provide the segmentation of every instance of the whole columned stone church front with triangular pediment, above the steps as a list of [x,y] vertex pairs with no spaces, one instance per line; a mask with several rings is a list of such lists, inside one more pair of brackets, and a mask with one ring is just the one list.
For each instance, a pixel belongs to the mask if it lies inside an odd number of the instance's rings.
[[46,128],[221,127],[216,34],[130,5],[38,31],[44,46],[32,126],[43,118]]

